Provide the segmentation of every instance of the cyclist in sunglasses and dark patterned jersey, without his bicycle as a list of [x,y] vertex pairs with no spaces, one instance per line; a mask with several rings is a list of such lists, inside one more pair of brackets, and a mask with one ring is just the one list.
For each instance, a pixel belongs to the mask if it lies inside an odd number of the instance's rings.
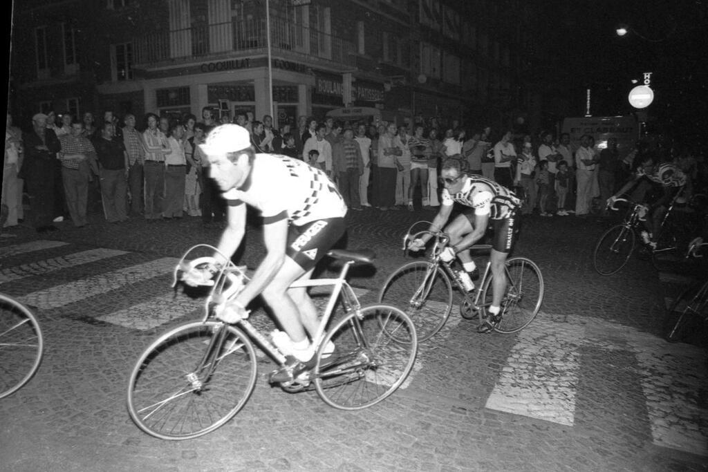
[[[492,304],[487,309],[490,318],[478,330],[489,333],[498,323],[501,311],[501,299],[506,290],[504,265],[515,241],[516,212],[520,200],[506,187],[481,175],[464,173],[458,159],[447,159],[440,170],[442,205],[430,224],[430,231],[440,231],[452,213],[455,202],[469,207],[445,226],[445,233],[450,235],[449,245],[442,251],[440,258],[449,262],[457,256],[467,272],[476,271],[469,247],[479,241],[491,225],[494,236],[490,253],[491,272],[493,275]],[[411,251],[420,251],[430,235],[415,239],[409,243]]]

